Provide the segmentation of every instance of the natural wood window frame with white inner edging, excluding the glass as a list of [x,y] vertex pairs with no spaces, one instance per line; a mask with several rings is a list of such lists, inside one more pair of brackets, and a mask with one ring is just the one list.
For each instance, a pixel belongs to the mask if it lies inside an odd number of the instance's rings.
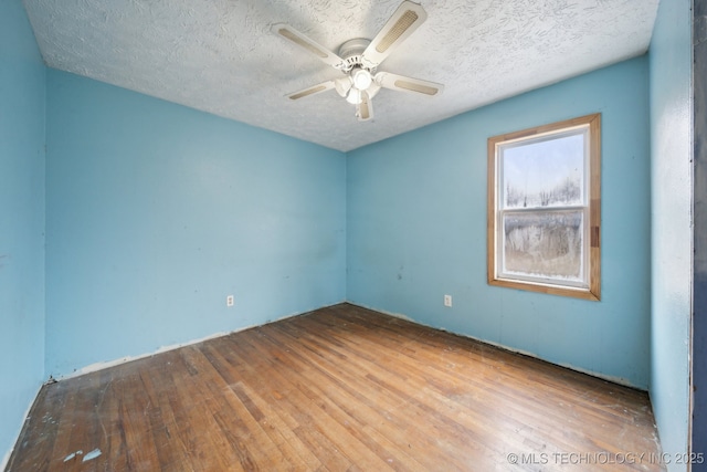
[[[502,274],[499,271],[500,251],[504,242],[499,239],[502,212],[510,211],[502,208],[503,191],[499,190],[500,180],[500,153],[507,145],[517,145],[527,140],[528,144],[537,143],[542,138],[561,135],[563,133],[587,129],[588,139],[585,146],[585,159],[583,174],[583,270],[584,281],[581,286],[569,286],[559,281],[547,277],[513,277]],[[559,137],[559,136],[558,136]],[[601,300],[601,114],[592,114],[549,125],[537,126],[520,132],[508,133],[488,138],[488,178],[487,178],[487,273],[488,284],[540,292],[553,295],[571,296],[577,298]],[[587,175],[587,172],[589,175]],[[502,183],[503,185],[503,183]],[[589,224],[587,224],[587,220]]]

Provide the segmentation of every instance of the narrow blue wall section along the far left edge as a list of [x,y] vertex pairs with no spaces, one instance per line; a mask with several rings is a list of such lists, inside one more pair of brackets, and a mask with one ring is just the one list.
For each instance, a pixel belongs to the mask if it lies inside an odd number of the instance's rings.
[[0,2],[0,468],[44,377],[45,81],[22,2]]

